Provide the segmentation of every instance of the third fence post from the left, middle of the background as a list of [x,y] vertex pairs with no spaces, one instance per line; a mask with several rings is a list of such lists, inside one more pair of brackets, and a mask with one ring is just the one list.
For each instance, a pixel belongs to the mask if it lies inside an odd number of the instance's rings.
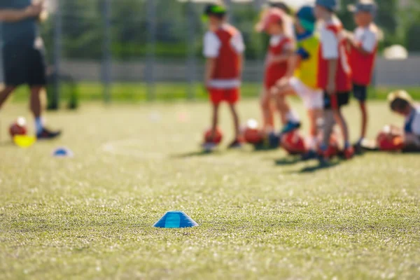
[[155,48],[156,48],[156,2],[157,0],[147,0],[147,57],[146,57],[146,83],[147,99],[155,99]]

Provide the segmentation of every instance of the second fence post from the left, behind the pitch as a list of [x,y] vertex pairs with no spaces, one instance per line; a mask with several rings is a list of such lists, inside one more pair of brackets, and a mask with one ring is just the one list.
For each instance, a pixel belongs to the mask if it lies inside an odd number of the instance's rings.
[[102,4],[104,21],[104,41],[102,42],[102,85],[104,86],[104,102],[111,102],[112,54],[111,54],[111,0]]

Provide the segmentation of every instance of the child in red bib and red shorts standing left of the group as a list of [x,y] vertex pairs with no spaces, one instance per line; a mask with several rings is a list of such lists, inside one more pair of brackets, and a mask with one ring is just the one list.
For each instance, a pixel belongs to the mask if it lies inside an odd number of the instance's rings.
[[[239,116],[236,104],[239,101],[243,53],[245,50],[241,32],[226,22],[227,10],[224,6],[211,4],[204,10],[209,21],[209,31],[204,36],[204,57],[207,58],[204,84],[210,94],[213,106],[211,128],[216,132],[218,125],[218,109],[221,102],[229,104],[235,125],[235,139],[229,148],[239,148]],[[204,143],[211,148],[213,143]]]

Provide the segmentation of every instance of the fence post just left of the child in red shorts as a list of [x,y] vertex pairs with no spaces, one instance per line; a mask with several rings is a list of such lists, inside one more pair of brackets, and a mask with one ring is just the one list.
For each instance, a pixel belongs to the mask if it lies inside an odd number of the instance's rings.
[[194,3],[191,0],[187,2],[187,69],[186,75],[188,80],[188,99],[195,98],[195,74],[196,74],[196,63],[195,63],[195,15]]

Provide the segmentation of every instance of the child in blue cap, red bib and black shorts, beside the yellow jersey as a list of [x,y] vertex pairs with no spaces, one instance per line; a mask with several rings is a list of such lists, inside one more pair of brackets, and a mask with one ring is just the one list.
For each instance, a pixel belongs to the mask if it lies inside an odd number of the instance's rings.
[[337,0],[316,0],[315,16],[320,23],[321,48],[318,62],[318,87],[324,91],[324,133],[321,162],[328,160],[328,145],[335,122],[342,129],[344,158],[354,155],[349,129],[341,107],[349,104],[351,69],[346,52],[342,23],[335,16]]

